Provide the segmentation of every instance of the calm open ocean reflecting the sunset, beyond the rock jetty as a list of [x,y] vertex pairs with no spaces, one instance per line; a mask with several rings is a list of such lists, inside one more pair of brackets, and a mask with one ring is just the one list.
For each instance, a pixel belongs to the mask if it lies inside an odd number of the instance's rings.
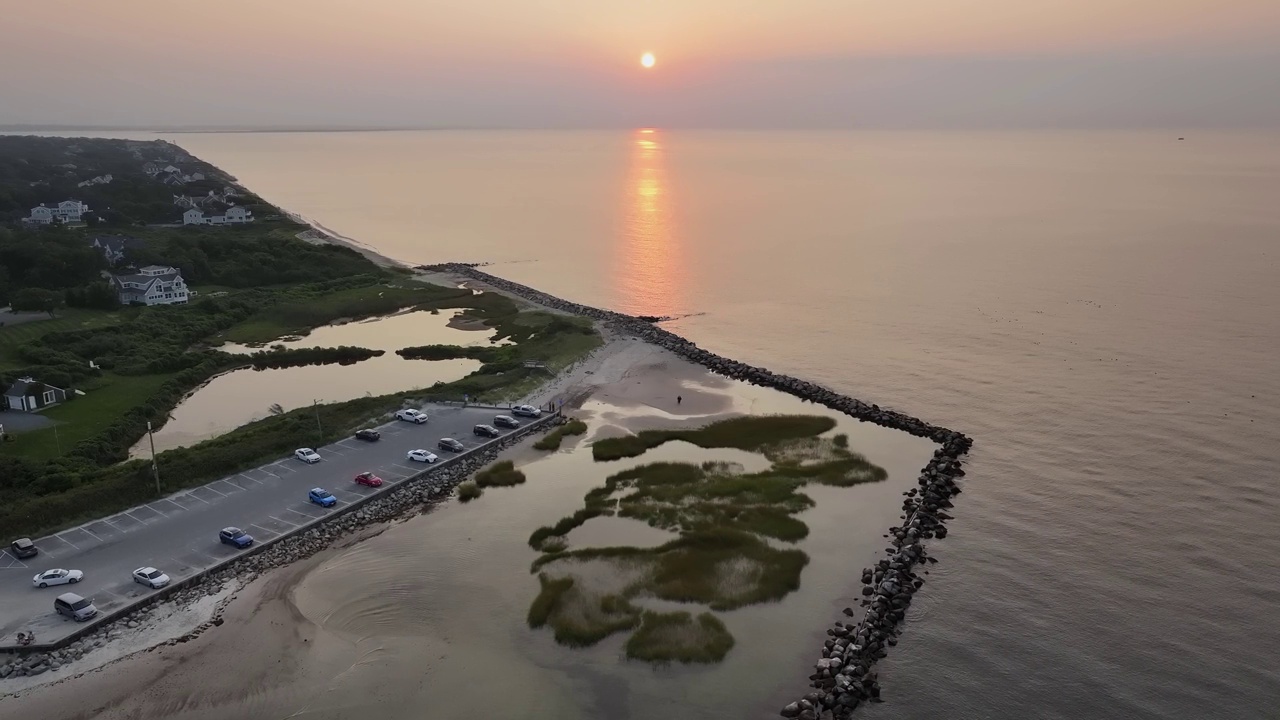
[[973,436],[867,717],[1276,716],[1280,136],[168,137],[393,258]]

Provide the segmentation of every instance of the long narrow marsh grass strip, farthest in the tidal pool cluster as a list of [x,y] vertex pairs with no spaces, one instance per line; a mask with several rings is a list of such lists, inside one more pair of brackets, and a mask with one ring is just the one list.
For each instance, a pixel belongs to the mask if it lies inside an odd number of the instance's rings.
[[636,457],[673,439],[707,448],[758,451],[771,443],[815,437],[835,427],[836,420],[824,415],[749,415],[691,430],[641,430],[634,436],[600,439],[591,446],[591,456],[598,461]]

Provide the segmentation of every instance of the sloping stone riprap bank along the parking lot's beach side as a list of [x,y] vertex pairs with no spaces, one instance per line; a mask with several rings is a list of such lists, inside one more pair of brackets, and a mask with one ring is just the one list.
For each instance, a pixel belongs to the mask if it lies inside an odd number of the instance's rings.
[[[556,418],[552,418],[549,423],[538,425],[535,432],[550,429],[554,427],[556,420]],[[416,512],[424,505],[442,502],[452,495],[453,488],[460,483],[480,468],[493,462],[502,450],[521,442],[525,437],[527,437],[527,433],[509,436],[483,450],[472,451],[465,457],[458,457],[447,466],[428,469],[425,474],[396,486],[387,493],[378,496],[351,512],[333,516],[324,523],[312,525],[310,529],[275,541],[261,552],[233,561],[202,579],[187,584],[155,605],[105,623],[93,633],[65,647],[54,651],[14,652],[9,657],[0,657],[0,693],[4,693],[5,678],[60,671],[69,662],[79,660],[95,648],[119,638],[125,629],[136,629],[145,625],[159,612],[161,606],[186,606],[206,596],[218,594],[233,579],[247,584],[268,570],[296,562],[328,548],[335,539],[348,533],[367,525],[394,520],[407,512]],[[214,611],[210,620],[165,644],[188,642],[209,628],[221,625],[221,610],[225,603],[227,601]]]

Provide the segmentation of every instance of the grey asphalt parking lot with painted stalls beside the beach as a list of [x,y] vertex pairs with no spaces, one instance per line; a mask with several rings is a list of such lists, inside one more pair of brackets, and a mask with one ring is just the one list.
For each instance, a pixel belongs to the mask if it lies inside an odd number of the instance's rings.
[[[462,441],[467,448],[488,442],[474,434],[477,423],[493,424],[493,409],[429,405],[430,421],[416,425],[396,421],[380,428],[379,442],[347,438],[317,448],[321,461],[307,465],[284,459],[164,500],[87,523],[78,528],[36,539],[40,555],[18,560],[4,538],[0,551],[0,644],[14,642],[19,630],[33,630],[37,642],[55,642],[79,628],[54,612],[54,598],[64,592],[90,597],[101,614],[111,612],[154,591],[134,583],[136,568],[150,565],[174,580],[200,573],[242,551],[218,539],[218,530],[236,525],[269,541],[298,525],[342,509],[347,502],[385,492],[421,471],[404,454],[425,448],[447,460],[452,454],[436,447],[443,437]],[[525,419],[520,419],[521,424]],[[511,430],[499,428],[503,433]],[[439,461],[438,461],[439,462]],[[371,470],[383,478],[374,489],[353,482],[357,473]],[[161,475],[164,466],[160,468]],[[323,487],[338,498],[333,509],[307,501],[307,491]],[[74,585],[36,588],[32,578],[51,568],[82,570]]]

